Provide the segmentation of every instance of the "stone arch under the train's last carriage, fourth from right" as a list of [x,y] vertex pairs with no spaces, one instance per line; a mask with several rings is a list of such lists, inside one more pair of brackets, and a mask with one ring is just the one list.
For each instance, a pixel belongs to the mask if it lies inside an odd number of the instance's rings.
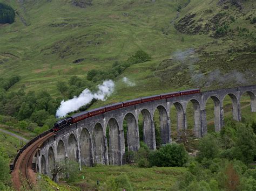
[[[197,100],[190,100],[187,102],[187,104],[189,102],[192,102],[193,104],[193,110],[194,110],[194,128],[193,128],[193,132],[194,135],[198,138],[203,136],[203,130],[201,129],[201,107],[200,107],[200,103]],[[187,109],[187,108],[186,108]]]

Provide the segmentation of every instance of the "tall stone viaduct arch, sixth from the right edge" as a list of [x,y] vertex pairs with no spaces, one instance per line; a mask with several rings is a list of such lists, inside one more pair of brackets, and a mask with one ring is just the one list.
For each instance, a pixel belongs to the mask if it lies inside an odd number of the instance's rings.
[[167,114],[167,110],[163,105],[158,105],[158,107],[154,110],[154,113],[156,110],[159,111],[161,144],[171,143],[170,119]]

